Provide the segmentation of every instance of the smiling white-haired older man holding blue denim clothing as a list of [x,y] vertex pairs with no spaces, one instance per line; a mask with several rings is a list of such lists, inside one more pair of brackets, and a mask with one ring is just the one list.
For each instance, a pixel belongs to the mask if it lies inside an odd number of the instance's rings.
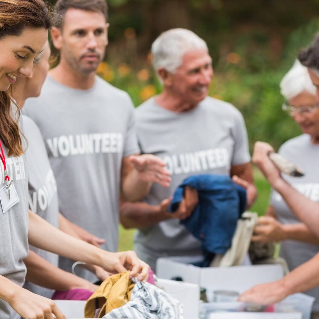
[[256,197],[245,123],[233,105],[208,97],[212,60],[204,40],[186,29],[162,33],[152,45],[153,65],[163,92],[136,110],[143,153],[167,164],[172,182],[153,185],[143,203],[122,203],[124,227],[137,227],[134,249],[155,268],[163,256],[200,255],[201,244],[180,219],[197,204],[197,191],[186,188],[174,213],[167,207],[177,186],[195,174],[227,174],[247,188],[248,205]]

